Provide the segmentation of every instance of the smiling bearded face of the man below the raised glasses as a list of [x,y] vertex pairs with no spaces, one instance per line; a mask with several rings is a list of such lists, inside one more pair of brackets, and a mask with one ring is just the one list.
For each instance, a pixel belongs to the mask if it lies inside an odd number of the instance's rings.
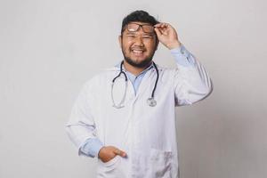
[[[148,24],[138,21],[134,21],[134,23]],[[122,36],[119,36],[118,39],[125,61],[136,68],[147,67],[158,47],[155,31],[144,32],[141,27],[137,31],[128,31],[125,27]]]

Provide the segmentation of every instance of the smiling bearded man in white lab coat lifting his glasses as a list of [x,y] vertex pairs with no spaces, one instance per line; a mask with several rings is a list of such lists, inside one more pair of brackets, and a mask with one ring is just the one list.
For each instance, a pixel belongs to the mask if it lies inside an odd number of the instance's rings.
[[[148,12],[127,15],[118,40],[124,61],[85,83],[66,125],[69,138],[79,155],[98,158],[98,178],[177,178],[175,106],[206,98],[211,80],[175,29]],[[175,69],[152,61],[159,42]]]

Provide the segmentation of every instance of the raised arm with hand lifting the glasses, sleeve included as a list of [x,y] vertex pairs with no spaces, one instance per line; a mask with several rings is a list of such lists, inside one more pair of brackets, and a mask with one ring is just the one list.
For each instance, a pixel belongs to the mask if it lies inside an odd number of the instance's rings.
[[174,55],[175,106],[192,104],[203,100],[212,90],[213,85],[206,69],[181,44],[175,29],[167,23],[155,25],[158,40]]

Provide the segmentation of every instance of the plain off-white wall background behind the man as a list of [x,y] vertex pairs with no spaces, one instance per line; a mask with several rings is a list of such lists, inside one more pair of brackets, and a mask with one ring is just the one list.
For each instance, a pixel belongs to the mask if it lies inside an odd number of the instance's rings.
[[[0,177],[93,178],[64,130],[87,79],[123,60],[129,12],[171,23],[201,61],[214,93],[177,108],[182,178],[266,178],[266,31],[263,0],[0,0]],[[155,61],[174,67],[160,45]]]

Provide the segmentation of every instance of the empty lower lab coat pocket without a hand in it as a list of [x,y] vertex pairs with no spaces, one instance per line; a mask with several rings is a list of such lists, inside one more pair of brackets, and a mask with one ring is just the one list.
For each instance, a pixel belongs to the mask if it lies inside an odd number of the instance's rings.
[[148,177],[171,178],[173,158],[172,151],[152,149],[150,151]]

